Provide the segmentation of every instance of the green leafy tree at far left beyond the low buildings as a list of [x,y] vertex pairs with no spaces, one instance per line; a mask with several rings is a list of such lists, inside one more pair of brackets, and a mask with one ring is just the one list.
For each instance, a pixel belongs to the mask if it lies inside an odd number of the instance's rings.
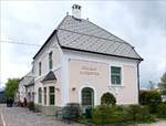
[[4,94],[7,98],[14,98],[14,94],[19,86],[19,80],[18,78],[9,78],[6,83]]

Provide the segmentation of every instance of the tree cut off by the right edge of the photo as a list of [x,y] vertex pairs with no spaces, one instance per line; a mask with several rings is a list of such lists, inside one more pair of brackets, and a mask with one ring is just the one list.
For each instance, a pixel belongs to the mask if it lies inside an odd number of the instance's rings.
[[166,72],[160,77],[160,83],[158,84],[160,92],[163,95],[166,95]]

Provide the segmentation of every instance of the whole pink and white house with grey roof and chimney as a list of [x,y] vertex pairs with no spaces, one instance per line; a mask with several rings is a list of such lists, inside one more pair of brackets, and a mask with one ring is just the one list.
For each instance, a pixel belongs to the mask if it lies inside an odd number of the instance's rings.
[[34,103],[46,115],[68,103],[101,104],[110,92],[117,104],[138,104],[138,64],[143,59],[124,40],[72,7],[33,57]]

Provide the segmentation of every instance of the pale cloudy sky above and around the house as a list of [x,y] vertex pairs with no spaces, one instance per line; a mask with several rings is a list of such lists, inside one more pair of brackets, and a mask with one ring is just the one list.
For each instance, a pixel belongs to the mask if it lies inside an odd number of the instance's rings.
[[144,59],[141,87],[158,83],[166,72],[166,1],[1,1],[0,88],[9,77],[22,77],[31,70],[42,45],[72,4],[82,6],[81,17],[125,40]]

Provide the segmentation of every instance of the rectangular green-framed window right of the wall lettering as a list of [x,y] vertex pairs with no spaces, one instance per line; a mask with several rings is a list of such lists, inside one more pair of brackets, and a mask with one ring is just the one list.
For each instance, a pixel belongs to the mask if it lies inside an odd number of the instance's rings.
[[111,82],[113,85],[121,85],[121,67],[111,66]]

